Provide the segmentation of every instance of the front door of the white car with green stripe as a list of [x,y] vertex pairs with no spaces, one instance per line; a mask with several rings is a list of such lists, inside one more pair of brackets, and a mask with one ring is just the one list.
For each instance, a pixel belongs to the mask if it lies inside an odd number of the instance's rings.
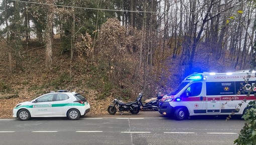
[[52,103],[54,94],[46,94],[32,102],[33,116],[52,115]]

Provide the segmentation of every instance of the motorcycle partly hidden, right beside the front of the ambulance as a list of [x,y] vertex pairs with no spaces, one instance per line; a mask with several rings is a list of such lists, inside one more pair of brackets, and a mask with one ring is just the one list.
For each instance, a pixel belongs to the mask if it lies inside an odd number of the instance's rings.
[[[140,93],[141,97],[143,96],[143,93]],[[157,93],[157,97],[152,97],[150,99],[145,100],[145,104],[141,102],[141,109],[153,109],[155,111],[159,108],[159,101],[164,96],[161,92]]]

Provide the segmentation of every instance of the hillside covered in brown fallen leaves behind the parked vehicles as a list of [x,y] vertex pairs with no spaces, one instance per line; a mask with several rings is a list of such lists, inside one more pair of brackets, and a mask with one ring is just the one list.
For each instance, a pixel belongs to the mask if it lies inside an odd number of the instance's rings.
[[[91,105],[90,115],[107,114],[107,106],[114,97],[121,96],[125,102],[133,101],[142,89],[143,72],[138,72],[137,78],[134,79],[136,83],[131,81],[136,65],[133,63],[134,60],[129,59],[129,57],[134,54],[129,53],[126,56],[126,69],[123,69],[125,76],[116,77],[123,78],[121,84],[112,84],[109,80],[109,72],[106,70],[108,63],[77,56],[70,62],[70,53],[62,51],[59,39],[54,40],[53,66],[52,70],[49,71],[45,70],[45,46],[38,41],[32,40],[28,45],[24,43],[21,50],[22,63],[19,63],[22,67],[18,67],[19,65],[15,61],[15,52],[12,52],[13,74],[8,72],[8,47],[4,42],[1,42],[0,45],[2,46],[0,47],[0,118],[11,118],[13,107],[17,103],[32,100],[37,96],[58,89],[76,91],[85,96]],[[145,89],[152,92],[146,92],[144,99],[150,98],[159,91],[166,93],[178,85],[181,78],[181,70],[178,67],[179,59],[172,59],[169,55],[165,58],[166,63],[163,64],[163,68],[156,63],[154,74],[152,74],[155,78],[152,75],[148,76],[148,82],[145,84],[147,88]],[[195,57],[194,68],[200,68],[198,69],[200,71],[207,68],[219,69],[223,72],[223,66],[227,70],[230,66],[228,56],[226,56],[225,64],[216,61],[214,65],[210,66],[204,59],[205,52],[200,51]]]

